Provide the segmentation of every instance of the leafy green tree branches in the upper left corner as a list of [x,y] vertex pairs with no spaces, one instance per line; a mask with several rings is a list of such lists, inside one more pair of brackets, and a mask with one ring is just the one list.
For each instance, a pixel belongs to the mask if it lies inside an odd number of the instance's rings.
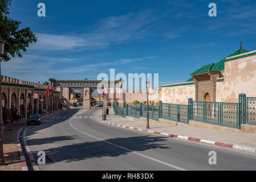
[[17,55],[22,57],[22,51],[26,52],[29,45],[37,41],[29,27],[20,28],[22,22],[9,17],[10,5],[11,0],[0,0],[0,36],[6,40],[3,61]]

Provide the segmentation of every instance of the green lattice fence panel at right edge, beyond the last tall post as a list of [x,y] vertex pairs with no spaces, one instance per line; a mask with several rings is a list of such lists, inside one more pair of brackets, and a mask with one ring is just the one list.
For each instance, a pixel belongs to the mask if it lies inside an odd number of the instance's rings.
[[246,123],[256,125],[256,97],[246,97]]

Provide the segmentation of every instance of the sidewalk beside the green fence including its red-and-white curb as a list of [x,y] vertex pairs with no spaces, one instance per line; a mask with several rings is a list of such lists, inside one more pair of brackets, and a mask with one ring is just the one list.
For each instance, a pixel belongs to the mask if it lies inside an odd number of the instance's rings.
[[[101,120],[100,120],[101,121]],[[140,129],[160,135],[169,137],[176,137],[180,139],[193,140],[196,142],[203,142],[209,144],[216,144],[218,146],[232,147],[237,150],[248,151],[256,153],[256,135],[246,133],[235,133],[231,131],[218,131],[210,129],[182,127],[162,125],[158,123],[149,123],[150,129],[146,129],[146,122],[131,121],[126,118],[116,118],[113,109],[109,109],[107,121],[113,123],[112,125],[124,127],[127,129],[139,130]]]

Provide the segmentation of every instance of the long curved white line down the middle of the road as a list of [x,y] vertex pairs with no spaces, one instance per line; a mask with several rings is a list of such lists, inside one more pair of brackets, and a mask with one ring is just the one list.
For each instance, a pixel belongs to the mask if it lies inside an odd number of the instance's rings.
[[174,169],[178,169],[178,170],[180,170],[180,171],[187,171],[187,170],[184,169],[184,168],[181,168],[181,167],[178,167],[178,166],[174,166],[174,165],[172,165],[172,164],[163,162],[163,161],[158,160],[158,159],[155,159],[155,158],[151,158],[150,156],[147,156],[147,155],[144,155],[144,154],[140,154],[139,152],[135,152],[135,151],[129,150],[128,148],[121,147],[121,146],[119,146],[119,145],[117,145],[117,144],[113,144],[113,143],[108,142],[108,141],[106,141],[106,140],[104,140],[104,139],[101,139],[101,138],[98,138],[98,137],[94,137],[94,136],[92,136],[92,135],[90,135],[90,134],[84,133],[83,131],[80,131],[80,130],[76,129],[76,127],[74,127],[74,126],[71,124],[71,121],[72,121],[72,118],[71,118],[70,121],[69,121],[70,126],[71,126],[73,129],[75,129],[76,131],[79,131],[80,133],[82,133],[82,134],[84,134],[84,135],[87,135],[87,136],[92,137],[92,138],[94,138],[94,139],[97,139],[97,140],[100,140],[100,141],[102,141],[102,142],[111,144],[112,146],[115,146],[115,147],[118,147],[118,148],[122,148],[123,150],[132,152],[133,154],[136,154],[136,155],[142,156],[142,157],[144,157],[144,158],[153,160],[153,161],[158,162],[158,163],[160,163],[160,164],[164,164],[165,166],[169,166],[169,167],[172,167],[172,168],[174,168]]

